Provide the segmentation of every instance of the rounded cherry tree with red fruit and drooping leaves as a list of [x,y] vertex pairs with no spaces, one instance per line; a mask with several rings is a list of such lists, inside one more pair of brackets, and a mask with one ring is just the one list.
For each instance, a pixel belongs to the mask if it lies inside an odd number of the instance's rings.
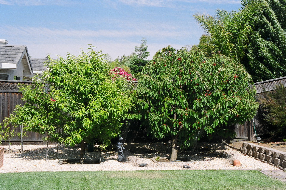
[[[156,138],[172,137],[171,160],[178,145],[190,146],[203,134],[251,119],[258,108],[251,76],[226,56],[196,51],[158,51],[137,85],[137,116],[149,122]],[[219,129],[219,130],[218,130]]]

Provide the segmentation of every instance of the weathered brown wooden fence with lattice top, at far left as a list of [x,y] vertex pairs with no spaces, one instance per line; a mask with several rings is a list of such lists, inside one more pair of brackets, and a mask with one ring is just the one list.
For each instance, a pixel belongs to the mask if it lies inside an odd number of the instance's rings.
[[[0,80],[0,121],[2,123],[5,117],[9,117],[13,113],[17,104],[23,105],[22,92],[18,90],[18,84],[31,84],[32,81],[14,81],[14,80]],[[20,127],[16,128],[16,133],[20,132]],[[24,142],[42,142],[43,136],[41,134],[27,131],[27,137],[23,137]],[[1,140],[3,141],[3,140]],[[21,141],[18,136],[11,139],[11,141]]]

